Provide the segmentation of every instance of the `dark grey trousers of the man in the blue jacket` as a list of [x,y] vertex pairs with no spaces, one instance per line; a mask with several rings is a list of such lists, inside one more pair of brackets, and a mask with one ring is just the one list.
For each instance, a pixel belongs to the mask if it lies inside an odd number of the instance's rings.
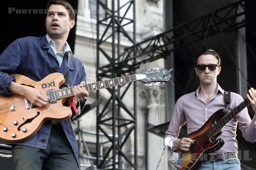
[[15,170],[78,170],[76,157],[61,125],[52,125],[46,149],[14,145]]

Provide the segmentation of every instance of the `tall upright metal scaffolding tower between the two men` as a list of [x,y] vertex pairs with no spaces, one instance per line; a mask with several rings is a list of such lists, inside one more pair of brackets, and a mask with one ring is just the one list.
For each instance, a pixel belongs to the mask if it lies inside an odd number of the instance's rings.
[[[111,8],[108,8],[106,0],[97,0],[97,81],[102,78],[115,78],[120,77],[122,74],[119,69],[115,69],[121,59],[121,35],[126,37],[131,44],[136,44],[136,21],[135,21],[135,0],[129,0],[127,3],[120,6],[120,0],[112,0]],[[117,3],[117,4],[116,4]],[[102,10],[103,9],[103,10]],[[104,11],[105,15],[99,14],[99,11]],[[131,12],[133,18],[128,18],[126,14]],[[133,33],[130,35],[127,27],[132,26]],[[99,34],[100,31],[103,34]],[[109,32],[111,32],[109,34]],[[104,49],[103,45],[108,42],[112,43],[112,54]],[[133,52],[131,52],[133,53]],[[102,61],[106,60],[111,71],[102,69]],[[104,63],[105,64],[105,63]],[[102,75],[102,72],[106,74]],[[134,70],[125,72],[125,74],[133,74]],[[122,170],[123,162],[125,161],[129,166],[137,170],[137,108],[136,108],[136,82],[133,83],[134,106],[131,111],[122,101],[123,97],[131,87],[128,85],[113,86],[108,88],[109,99],[103,109],[97,107],[97,160],[96,165],[100,169]],[[122,91],[121,91],[122,89]],[[123,90],[124,89],[124,90]],[[99,99],[100,91],[97,91],[96,98]],[[108,109],[110,108],[110,109]],[[121,115],[121,110],[123,114]],[[129,118],[127,118],[129,117]],[[110,134],[112,129],[112,134]],[[99,134],[103,133],[110,143],[110,147],[106,152],[102,152],[102,142],[100,141]],[[129,155],[123,151],[125,143],[128,141],[129,136],[133,133],[134,138]],[[131,139],[130,139],[131,140]],[[102,158],[103,159],[100,159]],[[111,161],[108,161],[111,160]]]

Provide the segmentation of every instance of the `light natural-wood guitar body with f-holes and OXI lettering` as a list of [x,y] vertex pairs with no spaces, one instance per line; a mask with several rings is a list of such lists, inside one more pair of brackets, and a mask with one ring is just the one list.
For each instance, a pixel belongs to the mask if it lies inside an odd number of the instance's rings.
[[[39,82],[28,77],[14,74],[16,82],[40,89],[47,94],[47,90],[58,90],[64,82],[60,73],[53,73]],[[0,97],[0,139],[7,142],[22,142],[29,139],[39,130],[47,120],[63,121],[72,115],[69,107],[63,106],[64,99],[55,103],[48,103],[43,108],[38,108],[24,96],[1,96]],[[28,108],[28,107],[29,108]],[[33,108],[34,107],[34,108]]]

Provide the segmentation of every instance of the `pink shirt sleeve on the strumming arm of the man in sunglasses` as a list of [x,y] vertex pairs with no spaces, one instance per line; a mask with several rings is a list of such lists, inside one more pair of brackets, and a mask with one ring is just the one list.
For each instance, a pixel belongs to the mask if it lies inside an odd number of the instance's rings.
[[186,118],[183,114],[182,98],[178,99],[174,111],[172,113],[172,118],[169,123],[168,130],[166,130],[166,136],[164,139],[164,146],[169,150],[177,150],[174,143],[177,140],[180,128],[186,123]]

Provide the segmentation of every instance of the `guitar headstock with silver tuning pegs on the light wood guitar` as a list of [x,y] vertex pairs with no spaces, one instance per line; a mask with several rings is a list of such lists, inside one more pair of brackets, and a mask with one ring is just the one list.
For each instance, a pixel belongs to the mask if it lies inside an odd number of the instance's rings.
[[154,83],[154,85],[158,85],[157,82],[160,82],[160,85],[163,85],[163,82],[168,82],[169,79],[172,77],[171,72],[173,69],[166,70],[165,68],[161,69],[153,69],[151,68],[150,71],[145,70],[141,72],[140,74],[137,74],[138,81],[148,83],[148,86],[151,86],[151,82]]

